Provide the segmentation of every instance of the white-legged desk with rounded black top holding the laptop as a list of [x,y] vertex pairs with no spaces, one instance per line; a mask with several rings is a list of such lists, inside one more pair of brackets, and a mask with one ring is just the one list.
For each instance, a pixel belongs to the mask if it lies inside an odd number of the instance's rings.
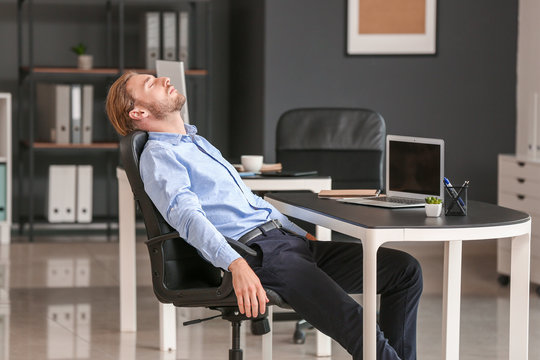
[[467,216],[426,218],[423,209],[389,210],[317,199],[312,194],[269,194],[285,215],[355,237],[364,248],[364,359],[375,359],[377,250],[386,242],[443,241],[443,359],[459,359],[461,245],[510,238],[509,359],[528,359],[531,219],[522,212],[471,201]]

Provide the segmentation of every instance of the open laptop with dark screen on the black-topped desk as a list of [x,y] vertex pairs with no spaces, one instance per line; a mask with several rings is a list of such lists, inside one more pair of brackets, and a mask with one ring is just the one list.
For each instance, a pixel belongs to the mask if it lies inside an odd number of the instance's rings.
[[444,140],[386,137],[386,196],[338,201],[386,208],[422,207],[428,196],[443,197]]

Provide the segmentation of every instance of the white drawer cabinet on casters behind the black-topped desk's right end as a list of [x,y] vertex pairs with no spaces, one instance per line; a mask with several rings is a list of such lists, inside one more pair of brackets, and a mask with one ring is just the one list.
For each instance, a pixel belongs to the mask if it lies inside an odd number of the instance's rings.
[[[531,282],[540,284],[540,160],[499,155],[498,204],[531,215]],[[510,273],[510,242],[497,244],[497,271]]]

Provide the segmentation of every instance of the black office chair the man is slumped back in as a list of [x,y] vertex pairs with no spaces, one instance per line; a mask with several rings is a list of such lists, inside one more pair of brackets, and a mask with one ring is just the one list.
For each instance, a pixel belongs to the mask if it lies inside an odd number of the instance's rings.
[[[146,227],[154,293],[162,303],[179,307],[208,307],[221,312],[217,316],[230,321],[232,325],[229,359],[241,360],[240,325],[247,318],[238,311],[232,276],[203,260],[195,248],[180,238],[178,232],[163,219],[146,194],[139,173],[139,158],[147,140],[148,134],[142,131],[125,136],[120,141],[120,154]],[[256,255],[253,249],[238,241],[227,241],[243,256]],[[269,289],[266,291],[270,300],[268,305],[287,307],[277,293]],[[186,322],[184,325],[214,317]],[[269,331],[266,315],[252,322],[254,334],[263,335]]]

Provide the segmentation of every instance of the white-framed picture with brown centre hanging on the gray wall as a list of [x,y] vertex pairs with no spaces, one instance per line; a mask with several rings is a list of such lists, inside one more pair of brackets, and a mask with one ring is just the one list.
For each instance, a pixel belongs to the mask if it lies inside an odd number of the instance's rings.
[[435,54],[437,0],[347,1],[347,54]]

